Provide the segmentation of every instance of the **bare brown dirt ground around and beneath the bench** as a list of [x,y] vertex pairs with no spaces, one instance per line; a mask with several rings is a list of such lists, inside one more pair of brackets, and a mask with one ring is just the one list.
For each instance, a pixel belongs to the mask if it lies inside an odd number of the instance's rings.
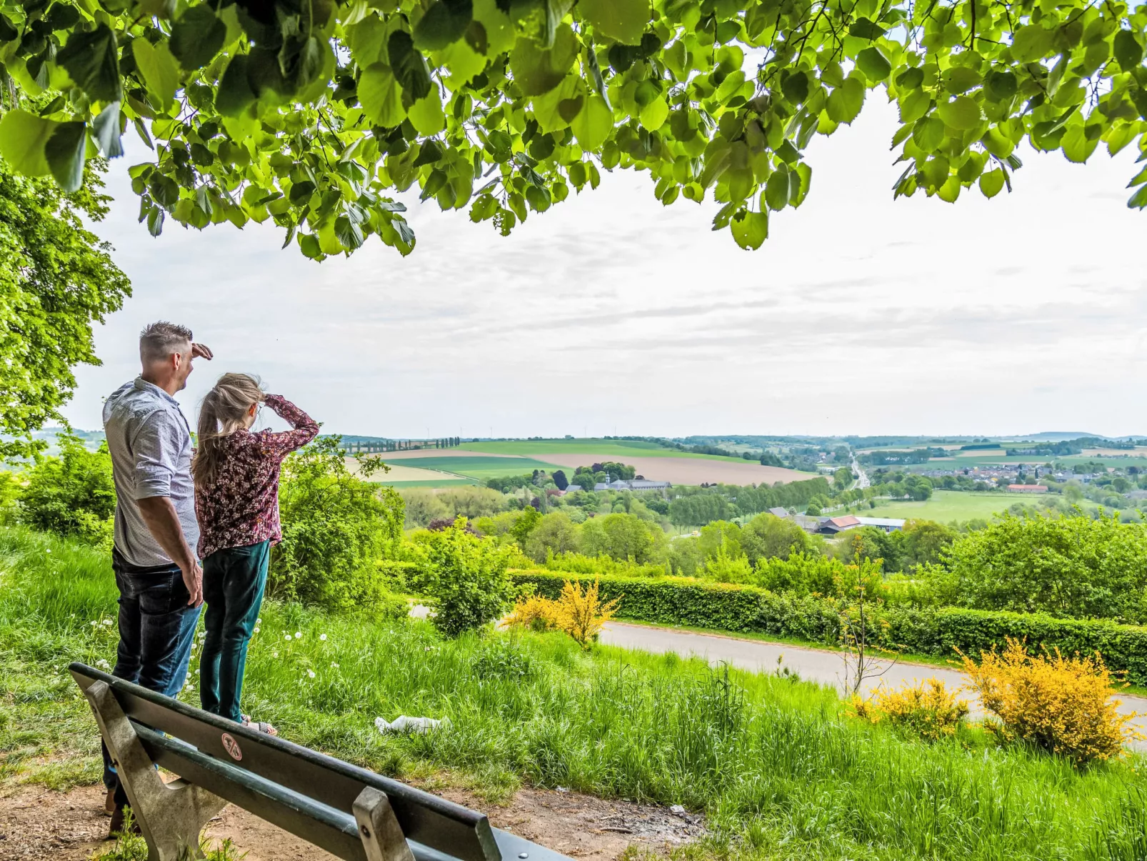
[[[699,816],[576,792],[524,789],[504,807],[479,802],[461,790],[437,794],[484,810],[496,828],[585,861],[614,861],[631,844],[679,845],[704,831]],[[102,810],[102,786],[70,792],[24,786],[0,793],[0,859],[87,861],[111,846],[104,841],[108,819]],[[206,836],[217,843],[229,837],[247,853],[245,861],[335,861],[334,855],[234,806],[211,821]]]

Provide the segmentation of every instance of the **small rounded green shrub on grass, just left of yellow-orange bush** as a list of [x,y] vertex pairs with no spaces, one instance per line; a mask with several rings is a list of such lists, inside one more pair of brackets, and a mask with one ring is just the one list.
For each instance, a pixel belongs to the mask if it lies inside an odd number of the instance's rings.
[[494,621],[513,597],[507,550],[466,527],[466,518],[459,517],[452,527],[420,536],[432,571],[428,587],[435,604],[432,621],[448,637]]

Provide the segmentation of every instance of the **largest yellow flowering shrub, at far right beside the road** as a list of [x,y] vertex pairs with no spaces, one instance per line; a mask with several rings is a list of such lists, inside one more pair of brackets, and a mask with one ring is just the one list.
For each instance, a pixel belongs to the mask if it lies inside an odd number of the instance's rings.
[[1142,738],[1134,715],[1116,708],[1114,678],[1099,652],[1064,658],[1029,654],[1022,641],[1007,638],[1002,653],[981,652],[980,664],[960,653],[970,688],[984,708],[1002,722],[1005,738],[1019,738],[1076,763],[1121,757],[1123,743]]

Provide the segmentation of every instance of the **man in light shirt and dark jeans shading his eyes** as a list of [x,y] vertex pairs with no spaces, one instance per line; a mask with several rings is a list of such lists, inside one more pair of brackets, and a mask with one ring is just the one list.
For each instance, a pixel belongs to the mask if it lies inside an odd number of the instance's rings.
[[[112,675],[169,697],[184,687],[203,604],[192,436],[172,395],[195,358],[211,350],[190,329],[153,323],[140,333],[142,372],[103,406],[116,482],[111,567],[119,589],[119,647]],[[107,747],[103,783],[111,832],[123,829],[127,796]]]

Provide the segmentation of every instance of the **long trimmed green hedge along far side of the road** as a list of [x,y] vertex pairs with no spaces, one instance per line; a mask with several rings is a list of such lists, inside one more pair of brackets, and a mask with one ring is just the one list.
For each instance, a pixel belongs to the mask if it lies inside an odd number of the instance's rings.
[[[594,577],[537,568],[510,573],[515,582],[531,583],[547,598],[556,598],[567,580],[596,579],[601,598],[617,598],[617,615],[623,619],[796,637],[829,645],[840,635],[841,603],[834,598],[794,598],[751,585],[689,577]],[[880,607],[873,622],[882,645],[943,658],[954,658],[957,649],[978,657],[981,651],[1002,646],[1005,637],[1027,638],[1030,646],[1043,644],[1064,654],[1098,651],[1110,669],[1125,672],[1129,682],[1147,684],[1147,628],[959,607]]]

